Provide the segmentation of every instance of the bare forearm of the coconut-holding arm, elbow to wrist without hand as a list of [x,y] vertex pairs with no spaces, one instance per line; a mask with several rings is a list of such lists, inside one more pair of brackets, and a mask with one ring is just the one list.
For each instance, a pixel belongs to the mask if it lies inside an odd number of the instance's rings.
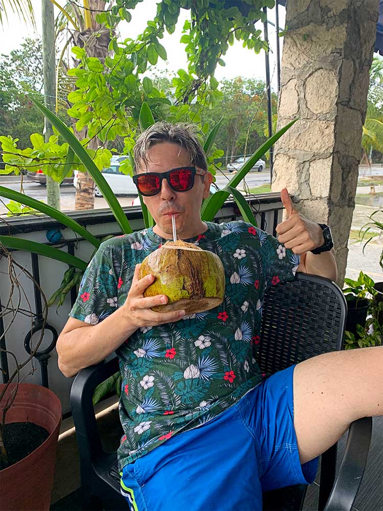
[[62,333],[57,342],[61,372],[69,378],[80,369],[101,362],[136,330],[123,308],[119,308],[96,325]]

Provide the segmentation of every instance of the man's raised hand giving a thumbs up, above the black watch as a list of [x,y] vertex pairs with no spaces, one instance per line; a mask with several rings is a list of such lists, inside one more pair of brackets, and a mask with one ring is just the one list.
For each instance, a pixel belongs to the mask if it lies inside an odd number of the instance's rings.
[[285,220],[276,227],[278,241],[296,254],[322,246],[324,238],[319,225],[298,213],[286,188],[280,196],[286,211]]

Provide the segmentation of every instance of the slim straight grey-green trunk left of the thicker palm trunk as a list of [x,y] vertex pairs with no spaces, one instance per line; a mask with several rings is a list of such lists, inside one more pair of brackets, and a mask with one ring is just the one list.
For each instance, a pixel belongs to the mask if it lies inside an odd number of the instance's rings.
[[[42,0],[42,58],[45,107],[55,111],[55,17],[51,0]],[[52,124],[45,118],[45,142],[53,135]],[[46,176],[46,201],[60,209],[60,187],[51,176]]]

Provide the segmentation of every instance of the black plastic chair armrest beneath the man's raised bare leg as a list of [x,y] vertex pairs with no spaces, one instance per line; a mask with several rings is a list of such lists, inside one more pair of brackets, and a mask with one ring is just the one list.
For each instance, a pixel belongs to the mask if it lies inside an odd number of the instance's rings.
[[366,469],[371,443],[372,417],[350,425],[346,451],[324,511],[350,511]]

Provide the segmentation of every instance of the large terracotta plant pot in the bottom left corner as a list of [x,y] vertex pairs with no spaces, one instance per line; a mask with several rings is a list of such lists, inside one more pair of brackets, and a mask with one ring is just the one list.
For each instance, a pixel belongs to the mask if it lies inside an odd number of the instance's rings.
[[[0,385],[0,393],[4,387],[5,384]],[[9,385],[0,403],[0,415],[14,387],[13,383]],[[20,383],[16,398],[6,414],[6,424],[13,422],[37,424],[47,430],[49,437],[31,454],[0,471],[0,510],[48,510],[61,424],[60,400],[45,387]]]

